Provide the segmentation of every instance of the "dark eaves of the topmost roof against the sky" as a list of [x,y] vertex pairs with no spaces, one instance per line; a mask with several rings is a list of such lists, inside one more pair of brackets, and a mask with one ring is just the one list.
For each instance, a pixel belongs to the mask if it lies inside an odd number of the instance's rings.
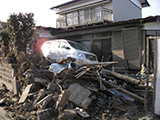
[[[72,1],[69,1],[69,2],[66,2],[66,3],[54,6],[54,7],[50,8],[50,9],[53,10],[55,8],[59,8],[59,7],[62,7],[62,6],[68,5],[68,4],[72,4],[72,3],[78,2],[78,1],[80,1],[80,0],[72,0]],[[150,4],[148,3],[147,0],[140,0],[140,2],[141,2],[142,7],[148,7],[148,6],[150,6]]]

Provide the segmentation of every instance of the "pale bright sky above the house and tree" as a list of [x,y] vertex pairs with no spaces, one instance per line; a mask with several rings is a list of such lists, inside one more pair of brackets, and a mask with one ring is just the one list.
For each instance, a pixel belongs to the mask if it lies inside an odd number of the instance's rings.
[[[51,7],[70,0],[0,0],[0,21],[6,22],[12,13],[34,13],[36,26],[56,27],[56,11]],[[160,15],[160,0],[148,0],[150,7],[142,9],[142,18]]]

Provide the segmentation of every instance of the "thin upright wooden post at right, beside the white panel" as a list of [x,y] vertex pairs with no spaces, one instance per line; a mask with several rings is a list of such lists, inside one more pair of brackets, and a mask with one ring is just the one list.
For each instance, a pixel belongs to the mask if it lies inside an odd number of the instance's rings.
[[147,86],[144,97],[144,110],[146,113],[148,111],[148,82],[149,82],[148,73],[149,73],[149,37],[147,37]]

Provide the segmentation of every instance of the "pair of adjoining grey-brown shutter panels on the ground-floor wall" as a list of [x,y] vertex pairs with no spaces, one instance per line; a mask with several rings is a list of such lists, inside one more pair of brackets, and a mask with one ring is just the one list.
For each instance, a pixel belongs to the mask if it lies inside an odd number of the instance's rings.
[[116,67],[126,67],[127,60],[130,69],[139,69],[139,40],[139,28],[113,32],[113,60],[119,62]]

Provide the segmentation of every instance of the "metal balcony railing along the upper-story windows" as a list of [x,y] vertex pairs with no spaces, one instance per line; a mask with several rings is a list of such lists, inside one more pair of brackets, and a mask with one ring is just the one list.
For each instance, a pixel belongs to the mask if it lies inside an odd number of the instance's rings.
[[101,7],[85,9],[66,14],[56,20],[57,28],[66,28],[84,24],[91,24],[100,21],[113,21],[113,11]]

